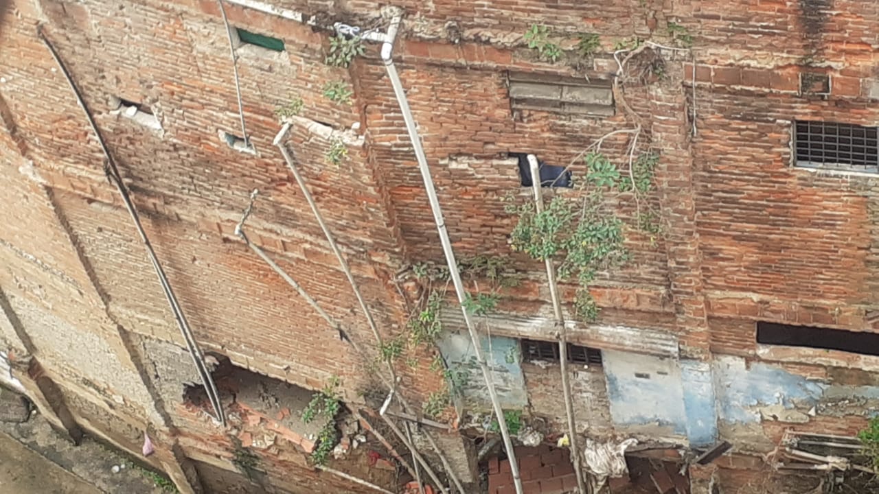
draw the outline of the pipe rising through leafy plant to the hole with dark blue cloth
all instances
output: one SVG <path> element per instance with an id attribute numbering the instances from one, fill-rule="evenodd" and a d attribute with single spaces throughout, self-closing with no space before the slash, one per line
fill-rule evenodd
<path id="1" fill-rule="evenodd" d="M 531 167 L 531 184 L 534 187 L 534 207 L 537 214 L 543 212 L 543 191 L 541 190 L 541 171 L 537 156 L 528 155 L 528 165 Z M 568 416 L 568 436 L 570 437 L 570 459 L 574 463 L 574 472 L 577 474 L 577 486 L 582 494 L 586 494 L 583 482 L 583 471 L 580 469 L 580 452 L 577 448 L 577 426 L 574 424 L 574 404 L 570 398 L 570 382 L 568 380 L 568 335 L 564 325 L 562 301 L 558 296 L 556 284 L 556 265 L 552 258 L 544 259 L 547 268 L 547 281 L 549 284 L 549 296 L 552 299 L 552 307 L 556 314 L 556 331 L 558 331 L 558 354 L 559 367 L 562 370 L 562 390 L 564 399 L 564 411 Z"/>

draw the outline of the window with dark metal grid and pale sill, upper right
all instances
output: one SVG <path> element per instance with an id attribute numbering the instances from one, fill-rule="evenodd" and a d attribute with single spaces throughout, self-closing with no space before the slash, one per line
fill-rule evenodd
<path id="1" fill-rule="evenodd" d="M 879 172 L 876 127 L 838 122 L 795 122 L 796 165 Z"/>

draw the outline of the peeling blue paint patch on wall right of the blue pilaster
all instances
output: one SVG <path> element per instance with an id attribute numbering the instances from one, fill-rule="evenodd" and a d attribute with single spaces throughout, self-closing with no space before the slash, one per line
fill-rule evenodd
<path id="1" fill-rule="evenodd" d="M 791 409 L 794 402 L 813 406 L 827 387 L 764 363 L 748 368 L 739 357 L 717 356 L 714 368 L 718 415 L 725 422 L 759 422 L 759 410 L 755 410 L 759 406 L 781 404 Z"/>

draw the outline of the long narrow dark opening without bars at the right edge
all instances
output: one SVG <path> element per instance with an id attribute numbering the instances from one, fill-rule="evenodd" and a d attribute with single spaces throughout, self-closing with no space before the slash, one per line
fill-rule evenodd
<path id="1" fill-rule="evenodd" d="M 757 343 L 879 355 L 879 334 L 815 326 L 758 322 Z"/>

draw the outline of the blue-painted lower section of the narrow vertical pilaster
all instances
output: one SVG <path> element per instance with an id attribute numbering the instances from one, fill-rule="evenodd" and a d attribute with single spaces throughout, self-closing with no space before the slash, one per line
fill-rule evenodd
<path id="1" fill-rule="evenodd" d="M 700 360 L 681 360 L 686 437 L 692 446 L 708 446 L 717 439 L 717 407 L 711 366 Z"/>

